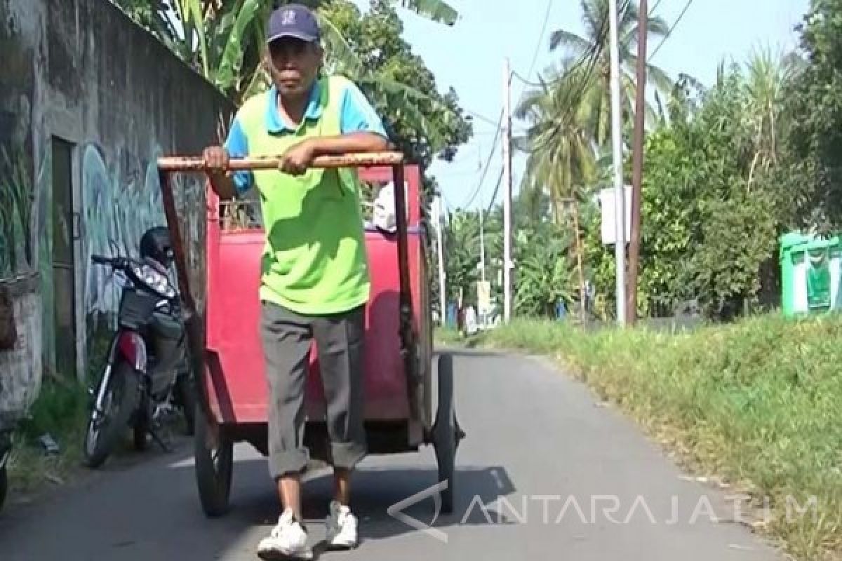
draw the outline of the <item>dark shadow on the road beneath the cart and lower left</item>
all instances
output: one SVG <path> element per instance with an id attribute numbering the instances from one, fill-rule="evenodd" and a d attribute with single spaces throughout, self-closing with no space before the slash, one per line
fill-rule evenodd
<path id="1" fill-rule="evenodd" d="M 239 561 L 277 521 L 278 500 L 264 458 L 241 458 L 235 465 L 231 510 L 209 519 L 200 509 L 189 451 L 162 454 L 150 463 L 96 478 L 31 509 L 0 517 L 4 561 L 32 559 L 119 559 L 140 561 Z M 390 506 L 438 483 L 435 468 L 413 467 L 413 455 L 374 458 L 354 479 L 354 511 L 360 539 L 381 542 L 420 535 L 418 528 L 392 517 Z M 457 468 L 456 500 L 450 515 L 434 516 L 431 497 L 402 512 L 442 532 L 513 522 L 497 501 L 516 492 L 503 467 Z M 306 480 L 304 511 L 314 539 L 323 536 L 333 496 L 327 470 Z M 6 516 L 8 515 L 8 516 Z M 430 537 L 425 540 L 434 541 Z M 318 550 L 318 549 L 317 549 Z"/>

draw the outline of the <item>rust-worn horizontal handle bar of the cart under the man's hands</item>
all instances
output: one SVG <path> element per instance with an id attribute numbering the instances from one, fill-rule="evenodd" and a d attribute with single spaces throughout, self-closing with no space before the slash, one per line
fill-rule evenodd
<path id="1" fill-rule="evenodd" d="M 373 167 L 397 166 L 403 163 L 401 152 L 371 152 L 349 154 L 346 156 L 318 156 L 312 162 L 312 167 Z M 280 166 L 280 156 L 252 156 L 247 158 L 231 158 L 228 161 L 228 171 L 277 169 Z M 205 159 L 195 156 L 164 156 L 157 159 L 157 167 L 161 172 L 205 172 Z"/>

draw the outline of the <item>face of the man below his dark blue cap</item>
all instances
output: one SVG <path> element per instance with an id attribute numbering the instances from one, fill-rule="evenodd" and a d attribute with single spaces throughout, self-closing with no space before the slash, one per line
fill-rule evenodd
<path id="1" fill-rule="evenodd" d="M 283 38 L 269 43 L 269 72 L 283 96 L 302 96 L 310 92 L 322 66 L 322 48 L 317 43 Z"/>

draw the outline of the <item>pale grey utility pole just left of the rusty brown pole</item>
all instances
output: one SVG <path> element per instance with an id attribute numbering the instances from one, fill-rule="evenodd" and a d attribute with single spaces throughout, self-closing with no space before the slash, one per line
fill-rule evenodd
<path id="1" fill-rule="evenodd" d="M 609 0 L 611 37 L 611 139 L 614 152 L 614 212 L 616 215 L 616 300 L 617 322 L 626 325 L 626 193 L 623 188 L 623 137 L 620 114 L 620 40 L 617 0 Z"/>

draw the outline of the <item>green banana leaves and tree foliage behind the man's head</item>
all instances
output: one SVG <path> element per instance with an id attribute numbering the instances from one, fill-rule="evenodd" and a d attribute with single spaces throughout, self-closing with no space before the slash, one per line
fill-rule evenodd
<path id="1" fill-rule="evenodd" d="M 285 0 L 114 1 L 235 102 L 268 86 L 264 22 Z M 395 5 L 444 24 L 455 23 L 456 11 L 443 0 L 372 0 L 365 14 L 349 0 L 301 3 L 317 9 L 328 71 L 360 84 L 400 149 L 424 168 L 435 156 L 452 159 L 470 138 L 471 124 L 456 92 L 440 93 L 433 73 L 402 39 Z"/>

